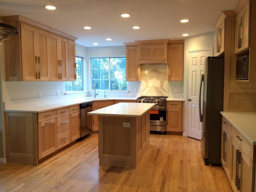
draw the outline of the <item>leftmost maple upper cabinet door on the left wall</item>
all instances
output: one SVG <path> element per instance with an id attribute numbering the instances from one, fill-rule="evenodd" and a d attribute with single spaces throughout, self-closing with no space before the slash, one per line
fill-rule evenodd
<path id="1" fill-rule="evenodd" d="M 21 31 L 22 80 L 37 81 L 38 57 L 35 55 L 37 31 L 35 27 L 24 23 L 21 23 Z"/>

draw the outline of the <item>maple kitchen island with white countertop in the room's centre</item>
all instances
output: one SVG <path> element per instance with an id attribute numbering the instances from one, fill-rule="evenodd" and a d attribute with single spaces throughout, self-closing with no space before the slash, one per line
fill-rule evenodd
<path id="1" fill-rule="evenodd" d="M 99 115 L 99 165 L 136 168 L 149 146 L 152 103 L 118 103 Z"/>

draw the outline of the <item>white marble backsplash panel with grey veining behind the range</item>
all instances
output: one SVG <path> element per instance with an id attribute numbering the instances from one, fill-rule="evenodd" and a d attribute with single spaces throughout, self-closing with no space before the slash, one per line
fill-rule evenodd
<path id="1" fill-rule="evenodd" d="M 142 65 L 141 95 L 168 96 L 167 64 Z"/>

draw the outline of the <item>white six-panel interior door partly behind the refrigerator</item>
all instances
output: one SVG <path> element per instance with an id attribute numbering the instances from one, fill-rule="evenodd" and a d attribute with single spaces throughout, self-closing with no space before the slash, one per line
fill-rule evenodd
<path id="1" fill-rule="evenodd" d="M 205 71 L 206 57 L 211 56 L 211 49 L 189 51 L 189 82 L 187 98 L 187 136 L 202 139 L 202 123 L 199 120 L 199 94 L 201 74 Z M 202 91 L 203 93 L 203 87 Z M 203 98 L 201 98 L 202 107 Z M 202 109 L 202 108 L 201 108 Z"/>

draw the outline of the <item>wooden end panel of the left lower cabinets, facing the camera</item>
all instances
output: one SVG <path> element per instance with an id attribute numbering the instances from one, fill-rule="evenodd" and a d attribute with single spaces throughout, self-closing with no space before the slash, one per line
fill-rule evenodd
<path id="1" fill-rule="evenodd" d="M 5 112 L 8 163 L 38 165 L 37 114 Z"/>

